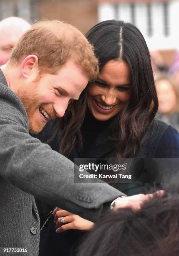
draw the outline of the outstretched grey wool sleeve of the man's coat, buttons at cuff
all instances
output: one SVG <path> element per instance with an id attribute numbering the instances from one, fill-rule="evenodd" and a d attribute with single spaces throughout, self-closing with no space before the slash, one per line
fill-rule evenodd
<path id="1" fill-rule="evenodd" d="M 0 175 L 50 205 L 95 221 L 111 201 L 124 195 L 106 183 L 74 183 L 76 166 L 30 136 L 23 118 L 0 118 L 0 145 Z"/>

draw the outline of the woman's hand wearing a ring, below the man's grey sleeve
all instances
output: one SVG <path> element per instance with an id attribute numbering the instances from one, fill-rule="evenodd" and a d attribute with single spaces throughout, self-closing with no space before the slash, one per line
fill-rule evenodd
<path id="1" fill-rule="evenodd" d="M 56 208 L 53 215 L 55 216 L 54 222 L 56 223 L 57 233 L 61 233 L 68 229 L 90 230 L 94 226 L 93 222 L 83 219 L 79 215 L 62 210 L 61 208 Z M 64 223 L 61 222 L 62 217 Z"/>

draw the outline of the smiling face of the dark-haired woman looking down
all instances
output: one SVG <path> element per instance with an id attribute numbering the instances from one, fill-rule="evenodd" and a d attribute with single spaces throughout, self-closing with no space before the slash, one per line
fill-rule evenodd
<path id="1" fill-rule="evenodd" d="M 108 61 L 88 89 L 87 104 L 94 118 L 106 121 L 131 98 L 130 69 L 124 61 Z"/>

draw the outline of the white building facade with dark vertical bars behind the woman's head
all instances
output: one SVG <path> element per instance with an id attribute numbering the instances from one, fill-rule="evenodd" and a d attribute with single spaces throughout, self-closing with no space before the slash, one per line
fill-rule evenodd
<path id="1" fill-rule="evenodd" d="M 98 20 L 136 25 L 150 50 L 179 49 L 178 0 L 98 0 Z"/>

